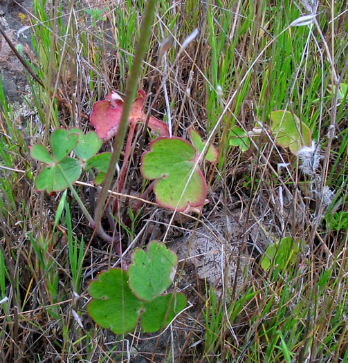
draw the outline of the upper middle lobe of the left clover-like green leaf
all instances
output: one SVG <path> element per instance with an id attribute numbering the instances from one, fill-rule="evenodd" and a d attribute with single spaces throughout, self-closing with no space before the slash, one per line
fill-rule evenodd
<path id="1" fill-rule="evenodd" d="M 78 135 L 66 129 L 57 129 L 51 134 L 51 150 L 57 162 L 63 160 L 76 146 Z"/>

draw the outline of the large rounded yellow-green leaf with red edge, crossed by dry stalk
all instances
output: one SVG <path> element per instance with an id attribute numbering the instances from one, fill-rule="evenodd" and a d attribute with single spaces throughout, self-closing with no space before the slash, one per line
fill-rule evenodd
<path id="1" fill-rule="evenodd" d="M 154 194 L 159 205 L 181 212 L 204 204 L 207 185 L 201 170 L 196 168 L 189 180 L 195 161 L 196 149 L 182 138 L 156 138 L 150 143 L 140 171 L 144 178 L 156 180 Z"/>

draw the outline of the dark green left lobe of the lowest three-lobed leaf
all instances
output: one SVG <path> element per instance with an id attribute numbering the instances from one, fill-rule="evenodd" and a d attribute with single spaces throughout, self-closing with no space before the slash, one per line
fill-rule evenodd
<path id="1" fill-rule="evenodd" d="M 102 328 L 116 334 L 132 331 L 138 323 L 143 301 L 131 292 L 125 270 L 112 268 L 100 272 L 89 284 L 92 300 L 87 304 L 89 316 Z"/>

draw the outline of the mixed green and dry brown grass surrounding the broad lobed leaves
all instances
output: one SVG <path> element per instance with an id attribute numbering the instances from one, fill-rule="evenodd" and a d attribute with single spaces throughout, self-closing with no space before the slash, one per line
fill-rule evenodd
<path id="1" fill-rule="evenodd" d="M 93 214 L 100 200 L 93 171 L 74 183 L 76 194 L 35 190 L 42 169 L 29 145 L 49 147 L 59 127 L 86 133 L 96 101 L 112 91 L 131 94 L 146 6 L 35 0 L 26 9 L 31 49 L 21 57 L 32 73 L 30 112 L 18 117 L 0 86 L 0 360 L 346 362 L 343 1 L 156 1 L 133 93 L 147 95 L 144 124 L 152 115 L 171 136 L 188 139 L 194 129 L 218 145 L 218 162 L 202 165 L 210 203 L 198 216 L 166 212 L 152 194 L 139 211 L 137 198 L 149 188 L 140 156 L 156 137 L 143 125 L 127 145 L 116 210 L 100 210 L 109 241 L 95 236 L 94 217 L 87 221 L 80 207 Z M 272 128 L 277 110 L 296 120 L 296 150 Z M 286 133 L 282 126 L 276 129 Z M 114 149 L 108 141 L 101 151 Z M 117 170 L 110 171 L 115 185 Z M 237 224 L 232 210 L 239 210 Z M 86 314 L 89 283 L 99 272 L 128 266 L 134 248 L 152 239 L 194 243 L 199 223 L 211 227 L 217 219 L 224 221 L 221 249 L 179 261 L 174 290 L 189 304 L 169 330 L 114 335 Z M 221 289 L 208 286 L 208 273 L 206 285 L 198 281 L 197 261 L 206 254 L 219 256 Z M 238 272 L 244 258 L 248 266 Z M 233 278 L 226 272 L 232 264 Z"/>

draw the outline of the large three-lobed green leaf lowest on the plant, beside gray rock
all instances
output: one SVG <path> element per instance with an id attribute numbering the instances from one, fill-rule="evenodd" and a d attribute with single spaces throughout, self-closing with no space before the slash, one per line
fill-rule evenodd
<path id="1" fill-rule="evenodd" d="M 152 241 L 147 252 L 133 253 L 128 271 L 111 268 L 98 274 L 89 285 L 92 300 L 87 312 L 102 328 L 126 334 L 138 324 L 152 333 L 167 326 L 186 306 L 181 292 L 164 294 L 170 287 L 177 257 L 164 243 Z"/>

